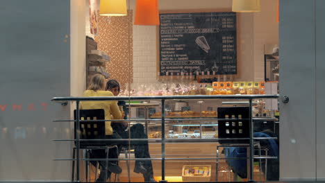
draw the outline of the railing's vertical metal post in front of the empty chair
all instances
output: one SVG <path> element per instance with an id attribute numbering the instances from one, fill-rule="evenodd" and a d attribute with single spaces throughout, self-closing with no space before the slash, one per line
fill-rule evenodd
<path id="1" fill-rule="evenodd" d="M 253 103 L 249 99 L 249 182 L 253 180 L 253 166 L 254 166 L 254 124 L 253 124 Z"/>

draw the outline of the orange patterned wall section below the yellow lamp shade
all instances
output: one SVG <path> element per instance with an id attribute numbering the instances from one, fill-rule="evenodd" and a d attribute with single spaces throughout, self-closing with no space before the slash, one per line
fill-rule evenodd
<path id="1" fill-rule="evenodd" d="M 110 56 L 106 63 L 109 79 L 122 84 L 133 82 L 133 11 L 123 17 L 99 17 L 98 49 Z"/>

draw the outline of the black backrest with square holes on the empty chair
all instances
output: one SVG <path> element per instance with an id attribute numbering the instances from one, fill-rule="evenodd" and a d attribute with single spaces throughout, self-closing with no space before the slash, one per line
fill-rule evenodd
<path id="1" fill-rule="evenodd" d="M 218 138 L 249 138 L 249 107 L 218 107 L 218 119 L 227 119 L 218 121 Z M 249 140 L 219 140 L 219 143 L 249 143 Z"/>

